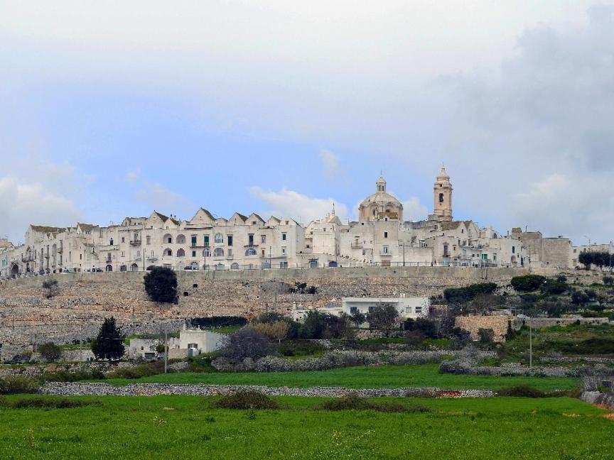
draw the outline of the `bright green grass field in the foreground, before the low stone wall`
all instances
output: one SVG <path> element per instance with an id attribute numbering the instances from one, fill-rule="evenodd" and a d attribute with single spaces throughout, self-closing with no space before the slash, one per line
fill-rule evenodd
<path id="1" fill-rule="evenodd" d="M 27 396 L 7 397 L 11 400 Z M 614 421 L 569 398 L 395 402 L 424 413 L 211 409 L 212 398 L 79 398 L 72 409 L 0 408 L 9 459 L 611 459 Z"/>

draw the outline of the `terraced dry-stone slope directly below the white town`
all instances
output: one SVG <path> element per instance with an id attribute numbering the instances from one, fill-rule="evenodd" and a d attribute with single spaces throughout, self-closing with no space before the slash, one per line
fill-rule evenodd
<path id="1" fill-rule="evenodd" d="M 507 285 L 523 270 L 490 268 L 488 281 Z M 341 297 L 441 295 L 448 287 L 485 280 L 469 267 L 328 268 L 311 270 L 237 270 L 178 272 L 177 305 L 151 302 L 143 273 L 68 273 L 53 275 L 60 293 L 45 298 L 43 280 L 21 278 L 0 288 L 2 358 L 33 342 L 85 340 L 113 315 L 126 332 L 179 329 L 185 319 L 212 315 L 248 315 L 265 310 L 289 312 L 293 305 L 323 307 Z M 291 293 L 296 283 L 316 286 L 315 295 Z M 184 295 L 185 294 L 185 295 Z"/>

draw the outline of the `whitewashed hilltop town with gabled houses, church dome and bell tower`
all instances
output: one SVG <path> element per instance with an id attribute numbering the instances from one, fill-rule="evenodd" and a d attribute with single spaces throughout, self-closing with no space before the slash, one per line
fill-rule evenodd
<path id="1" fill-rule="evenodd" d="M 264 220 L 235 212 L 214 217 L 200 208 L 190 220 L 154 211 L 122 224 L 31 224 L 24 243 L 0 241 L 0 277 L 50 273 L 125 272 L 164 266 L 174 270 L 254 270 L 365 266 L 465 266 L 576 268 L 582 251 L 564 236 L 539 231 L 497 232 L 473 220 L 453 219 L 453 187 L 442 168 L 433 185 L 433 214 L 405 221 L 403 204 L 379 177 L 375 193 L 360 204 L 358 221 L 333 210 L 301 225 L 292 217 Z M 298 210 L 297 210 L 298 212 Z"/>

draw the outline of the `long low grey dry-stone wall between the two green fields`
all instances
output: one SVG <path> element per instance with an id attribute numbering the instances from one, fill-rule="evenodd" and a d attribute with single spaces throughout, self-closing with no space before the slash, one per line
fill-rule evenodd
<path id="1" fill-rule="evenodd" d="M 389 396 L 421 398 L 492 398 L 491 390 L 441 390 L 439 388 L 367 388 L 351 389 L 343 387 L 288 388 L 240 385 L 175 385 L 168 383 L 136 383 L 133 385 L 113 386 L 108 383 L 46 383 L 39 393 L 58 396 L 212 396 L 233 393 L 237 390 L 258 390 L 269 396 L 305 396 L 308 398 L 340 398 L 355 394 L 368 398 Z"/>

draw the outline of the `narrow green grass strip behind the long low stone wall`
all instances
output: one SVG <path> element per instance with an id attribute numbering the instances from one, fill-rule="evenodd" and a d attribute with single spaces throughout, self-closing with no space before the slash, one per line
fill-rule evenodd
<path id="1" fill-rule="evenodd" d="M 576 378 L 456 376 L 442 374 L 437 364 L 419 366 L 377 366 L 331 369 L 308 372 L 271 373 L 173 373 L 138 380 L 109 379 L 113 385 L 129 383 L 205 383 L 209 385 L 267 385 L 304 388 L 343 386 L 347 388 L 438 387 L 455 389 L 497 389 L 514 385 L 531 385 L 539 390 L 578 388 Z"/>

